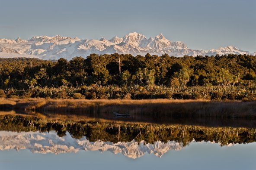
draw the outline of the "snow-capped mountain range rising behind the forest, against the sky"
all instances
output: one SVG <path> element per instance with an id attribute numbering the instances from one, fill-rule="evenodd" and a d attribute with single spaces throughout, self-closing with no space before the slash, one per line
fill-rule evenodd
<path id="1" fill-rule="evenodd" d="M 79 39 L 77 37 L 55 37 L 34 36 L 29 40 L 22 40 L 18 37 L 16 40 L 0 39 L 0 57 L 37 57 L 40 59 L 72 59 L 75 56 L 86 58 L 91 53 L 96 54 L 140 54 L 151 55 L 169 54 L 169 56 L 197 56 L 197 55 L 224 55 L 224 54 L 250 54 L 233 46 L 221 47 L 219 49 L 189 49 L 181 41 L 172 42 L 167 40 L 163 34 L 156 37 L 146 38 L 143 34 L 137 32 L 126 34 L 124 37 L 113 37 L 106 40 L 102 37 L 99 40 Z"/>

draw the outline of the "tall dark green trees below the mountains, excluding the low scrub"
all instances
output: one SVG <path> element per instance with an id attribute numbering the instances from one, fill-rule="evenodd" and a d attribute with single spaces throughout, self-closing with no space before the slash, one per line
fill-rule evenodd
<path id="1" fill-rule="evenodd" d="M 0 89 L 5 90 L 7 96 L 10 89 L 32 91 L 39 87 L 78 88 L 91 84 L 97 87 L 140 86 L 144 88 L 141 91 L 152 91 L 157 86 L 183 91 L 188 87 L 209 86 L 246 88 L 250 91 L 255 90 L 255 80 L 256 57 L 250 55 L 179 58 L 167 54 L 134 57 L 114 53 L 91 54 L 86 59 L 75 57 L 70 61 L 63 58 L 58 61 L 0 59 Z M 74 92 L 81 93 L 81 90 Z"/>

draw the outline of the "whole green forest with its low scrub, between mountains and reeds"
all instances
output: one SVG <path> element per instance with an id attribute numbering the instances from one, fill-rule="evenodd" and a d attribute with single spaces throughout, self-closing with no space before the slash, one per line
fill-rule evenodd
<path id="1" fill-rule="evenodd" d="M 0 97 L 256 99 L 256 57 L 90 54 L 0 59 Z"/>

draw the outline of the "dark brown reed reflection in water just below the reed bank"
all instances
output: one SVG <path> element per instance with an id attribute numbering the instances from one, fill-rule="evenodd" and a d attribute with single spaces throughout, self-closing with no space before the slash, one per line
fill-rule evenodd
<path id="1" fill-rule="evenodd" d="M 129 117 L 116 117 L 114 114 L 93 112 L 93 113 L 67 113 L 67 112 L 31 112 L 31 111 L 0 111 L 0 115 L 22 115 L 33 116 L 42 119 L 74 120 L 74 121 L 123 121 L 130 123 L 148 124 L 182 124 L 205 127 L 247 127 L 256 128 L 254 119 L 223 118 L 223 117 L 172 117 L 167 115 L 154 114 L 131 114 Z"/>

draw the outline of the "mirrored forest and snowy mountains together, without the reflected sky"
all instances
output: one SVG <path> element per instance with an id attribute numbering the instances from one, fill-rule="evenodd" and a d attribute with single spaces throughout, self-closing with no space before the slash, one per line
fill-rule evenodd
<path id="1" fill-rule="evenodd" d="M 256 141 L 254 127 L 135 123 L 74 116 L 73 120 L 65 116 L 57 120 L 34 116 L 1 115 L 0 150 L 27 148 L 33 153 L 54 154 L 110 151 L 139 158 L 145 153 L 161 157 L 191 142 L 232 146 Z"/>

